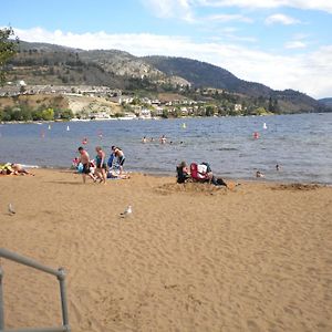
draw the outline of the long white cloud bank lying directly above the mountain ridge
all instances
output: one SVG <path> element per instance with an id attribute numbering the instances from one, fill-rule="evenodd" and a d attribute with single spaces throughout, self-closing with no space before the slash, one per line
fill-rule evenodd
<path id="1" fill-rule="evenodd" d="M 117 49 L 134 55 L 185 56 L 219 65 L 239 79 L 263 83 L 272 89 L 294 89 L 314 97 L 332 95 L 332 45 L 314 53 L 286 56 L 228 43 L 194 42 L 189 38 L 156 34 L 75 34 L 41 28 L 20 30 L 24 41 L 48 42 L 85 50 Z"/>

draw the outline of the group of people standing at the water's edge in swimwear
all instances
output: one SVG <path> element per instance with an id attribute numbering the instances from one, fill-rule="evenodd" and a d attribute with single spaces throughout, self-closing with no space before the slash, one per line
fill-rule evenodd
<path id="1" fill-rule="evenodd" d="M 123 165 L 125 162 L 125 155 L 123 151 L 117 146 L 112 146 L 112 153 L 106 160 L 106 154 L 101 146 L 95 147 L 96 156 L 94 159 L 90 158 L 90 155 L 85 148 L 79 147 L 80 157 L 73 160 L 73 166 L 77 168 L 79 173 L 82 173 L 83 183 L 86 181 L 86 176 L 89 176 L 93 181 L 100 181 L 106 184 L 107 177 L 115 177 L 113 169 L 114 158 L 117 158 L 118 175 L 116 177 L 126 178 L 123 174 Z"/>

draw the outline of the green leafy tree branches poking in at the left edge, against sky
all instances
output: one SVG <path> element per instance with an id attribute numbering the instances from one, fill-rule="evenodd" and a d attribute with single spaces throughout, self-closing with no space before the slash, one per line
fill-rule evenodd
<path id="1" fill-rule="evenodd" d="M 6 80 L 4 64 L 11 58 L 13 58 L 18 52 L 17 44 L 19 40 L 18 39 L 15 41 L 9 40 L 9 38 L 13 34 L 14 32 L 12 28 L 0 29 L 0 84 L 1 85 L 4 83 Z"/>

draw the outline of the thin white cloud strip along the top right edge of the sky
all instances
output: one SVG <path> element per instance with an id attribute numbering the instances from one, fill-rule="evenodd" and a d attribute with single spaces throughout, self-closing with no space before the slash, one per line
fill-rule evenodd
<path id="1" fill-rule="evenodd" d="M 241 7 L 241 8 L 280 8 L 320 10 L 332 13 L 330 0 L 194 0 L 196 6 L 204 7 Z"/>

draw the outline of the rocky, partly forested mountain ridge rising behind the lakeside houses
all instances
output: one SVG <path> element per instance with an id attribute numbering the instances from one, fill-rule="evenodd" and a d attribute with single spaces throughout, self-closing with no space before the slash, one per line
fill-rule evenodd
<path id="1" fill-rule="evenodd" d="M 197 60 L 170 56 L 134 56 L 118 50 L 66 48 L 20 42 L 10 62 L 9 79 L 28 84 L 107 85 L 128 91 L 188 91 L 217 89 L 239 102 L 278 103 L 282 113 L 325 112 L 329 105 L 293 90 L 274 91 L 263 84 L 240 80 L 229 71 Z"/>

